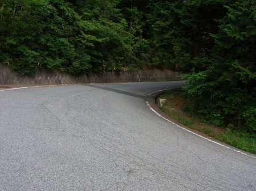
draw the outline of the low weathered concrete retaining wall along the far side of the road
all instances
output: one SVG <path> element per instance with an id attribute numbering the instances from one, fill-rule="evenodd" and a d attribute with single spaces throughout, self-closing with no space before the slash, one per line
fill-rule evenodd
<path id="1" fill-rule="evenodd" d="M 171 70 L 111 71 L 89 76 L 71 75 L 60 71 L 38 71 L 34 77 L 22 76 L 0 63 L 0 84 L 71 84 L 71 83 L 115 83 L 157 82 L 180 80 L 180 74 Z"/>

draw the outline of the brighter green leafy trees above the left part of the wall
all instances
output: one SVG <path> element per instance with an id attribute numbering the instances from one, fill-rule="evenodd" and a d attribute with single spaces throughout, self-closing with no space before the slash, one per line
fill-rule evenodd
<path id="1" fill-rule="evenodd" d="M 148 43 L 134 35 L 138 19 L 129 31 L 116 6 L 100 0 L 3 1 L 0 59 L 26 75 L 45 67 L 72 74 L 139 69 Z"/>

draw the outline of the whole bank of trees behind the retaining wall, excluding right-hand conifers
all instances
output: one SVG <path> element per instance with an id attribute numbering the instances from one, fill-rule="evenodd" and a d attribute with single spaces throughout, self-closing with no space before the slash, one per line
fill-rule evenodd
<path id="1" fill-rule="evenodd" d="M 44 67 L 72 74 L 152 67 L 189 72 L 194 65 L 204 70 L 214 43 L 209 32 L 216 31 L 221 5 L 210 0 L 5 0 L 0 58 L 29 75 Z M 20 45 L 36 53 L 26 66 L 35 70 L 16 67 L 24 56 Z"/>

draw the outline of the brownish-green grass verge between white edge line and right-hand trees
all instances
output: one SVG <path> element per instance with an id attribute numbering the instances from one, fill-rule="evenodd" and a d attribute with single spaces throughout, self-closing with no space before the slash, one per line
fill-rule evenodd
<path id="1" fill-rule="evenodd" d="M 166 99 L 166 102 L 161 108 L 164 113 L 179 121 L 188 128 L 195 129 L 217 139 L 225 142 L 231 146 L 240 148 L 241 150 L 256 154 L 256 134 L 249 134 L 241 132 L 236 129 L 221 128 L 216 125 L 208 124 L 205 120 L 193 116 L 184 111 L 185 105 L 184 93 L 182 90 L 166 92 L 160 95 L 159 98 Z"/>

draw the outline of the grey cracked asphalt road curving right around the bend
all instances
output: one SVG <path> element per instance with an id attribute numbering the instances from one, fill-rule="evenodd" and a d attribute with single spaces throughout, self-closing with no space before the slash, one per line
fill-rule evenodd
<path id="1" fill-rule="evenodd" d="M 182 83 L 0 90 L 0 190 L 256 190 L 255 155 L 148 108 Z"/>

